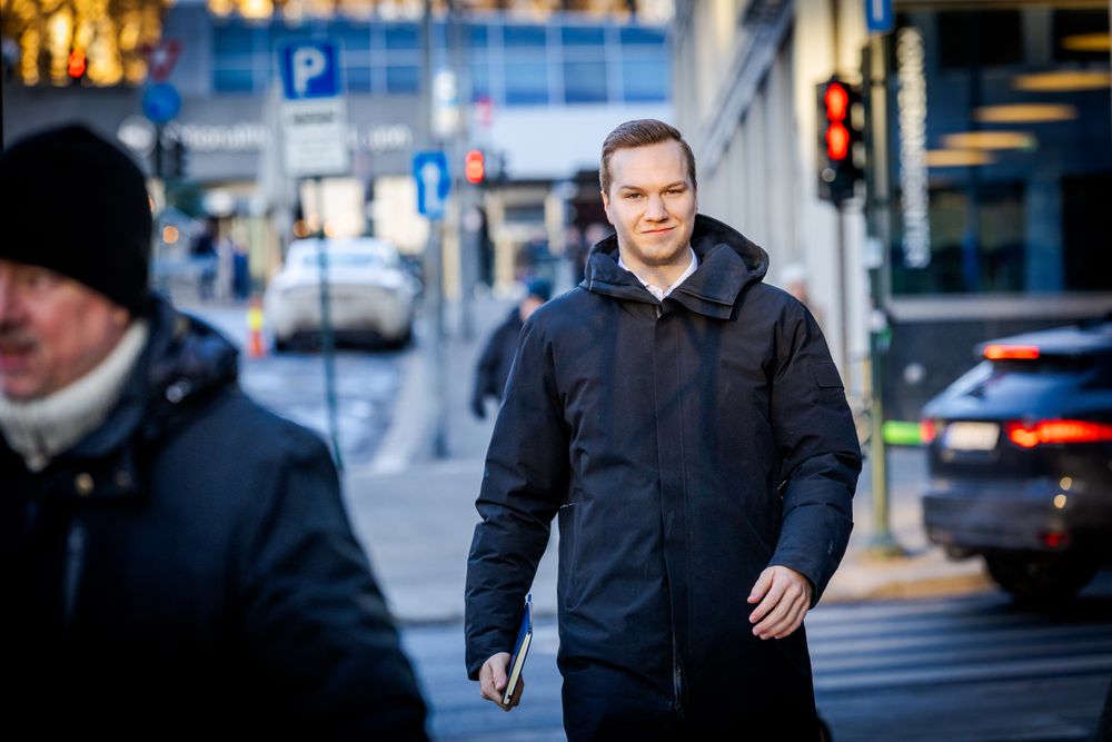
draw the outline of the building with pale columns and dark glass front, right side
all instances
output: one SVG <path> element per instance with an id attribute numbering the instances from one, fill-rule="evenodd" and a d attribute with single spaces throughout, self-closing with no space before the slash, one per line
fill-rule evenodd
<path id="1" fill-rule="evenodd" d="M 1112 309 L 1110 7 L 897 0 L 872 34 L 864 9 L 679 3 L 675 106 L 704 210 L 766 246 L 773 283 L 805 266 L 851 396 L 874 330 L 886 417 L 914 421 L 976 343 Z M 818 196 L 832 75 L 864 103 L 841 208 Z"/>

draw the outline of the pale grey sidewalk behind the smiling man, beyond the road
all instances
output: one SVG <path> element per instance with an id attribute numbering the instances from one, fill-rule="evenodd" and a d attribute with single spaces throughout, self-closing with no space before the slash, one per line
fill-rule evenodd
<path id="1" fill-rule="evenodd" d="M 396 419 L 375 461 L 346 473 L 349 512 L 367 546 L 375 572 L 404 623 L 458 621 L 464 611 L 467 553 L 478 515 L 475 497 L 483 459 L 494 427 L 493 404 L 485 421 L 469 409 L 475 362 L 490 329 L 513 301 L 480 298 L 474 303 L 475 337 L 453 333 L 449 359 L 447 443 L 449 457 L 431 457 L 424 422 L 429 395 L 425 355 L 420 348 L 407 359 Z M 458 321 L 449 321 L 458 326 Z M 922 452 L 894 449 L 892 531 L 910 556 L 880 561 L 868 555 L 872 536 L 871 477 L 865 462 L 854 503 L 850 548 L 831 582 L 824 602 L 906 598 L 990 590 L 980 560 L 949 562 L 929 547 L 920 525 L 919 488 L 925 469 Z M 533 586 L 534 609 L 556 612 L 554 538 L 540 562 Z"/>

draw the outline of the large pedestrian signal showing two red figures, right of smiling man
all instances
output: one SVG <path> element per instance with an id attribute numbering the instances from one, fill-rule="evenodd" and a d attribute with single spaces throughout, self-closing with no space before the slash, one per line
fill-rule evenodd
<path id="1" fill-rule="evenodd" d="M 818 85 L 818 197 L 841 204 L 853 197 L 864 177 L 860 158 L 861 128 L 854 109 L 861 92 L 837 76 Z"/>

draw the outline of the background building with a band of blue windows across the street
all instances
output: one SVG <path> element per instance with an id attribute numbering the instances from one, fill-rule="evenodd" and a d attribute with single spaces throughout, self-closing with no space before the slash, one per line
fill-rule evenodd
<path id="1" fill-rule="evenodd" d="M 509 285 L 532 246 L 543 243 L 554 256 L 563 255 L 569 210 L 567 187 L 559 186 L 597 167 L 606 132 L 631 118 L 671 117 L 666 26 L 628 12 L 477 3 L 466 13 L 436 13 L 426 24 L 420 3 L 379 3 L 359 17 L 298 19 L 288 13 L 250 19 L 230 6 L 220 14 L 212 4 L 181 0 L 166 11 L 161 44 L 172 46 L 177 57 L 166 81 L 181 105 L 161 131 L 143 116 L 151 81 L 136 87 L 10 81 L 4 137 L 83 120 L 118 137 L 158 175 L 160 136 L 167 142 L 162 150 L 180 149 L 173 165 L 185 172 L 177 179 L 198 190 L 202 210 L 220 219 L 221 231 L 250 245 L 259 280 L 278 265 L 291 237 L 321 221 L 332 234 L 374 233 L 404 251 L 423 251 L 428 225 L 417 214 L 413 155 L 445 148 L 457 192 L 470 189 L 468 209 L 483 212 L 493 255 L 481 256 L 481 277 Z M 284 171 L 276 59 L 285 44 L 321 38 L 341 50 L 353 157 L 350 176 L 325 180 L 325 212 L 318 215 L 318 199 L 308 197 L 312 184 L 297 184 Z M 470 148 L 486 156 L 483 188 L 459 177 Z M 163 154 L 163 169 L 169 159 Z M 470 222 L 458 202 L 449 208 L 445 244 L 456 290 L 466 260 L 460 225 Z"/>

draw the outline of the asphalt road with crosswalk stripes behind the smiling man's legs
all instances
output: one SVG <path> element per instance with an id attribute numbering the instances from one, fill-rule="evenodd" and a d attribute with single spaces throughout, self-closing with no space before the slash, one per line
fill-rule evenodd
<path id="1" fill-rule="evenodd" d="M 807 619 L 818 710 L 836 742 L 1090 740 L 1112 679 L 1112 573 L 1055 611 L 1000 593 L 820 606 Z M 522 705 L 464 676 L 458 624 L 404 632 L 445 742 L 563 740 L 558 640 L 536 624 Z"/>

